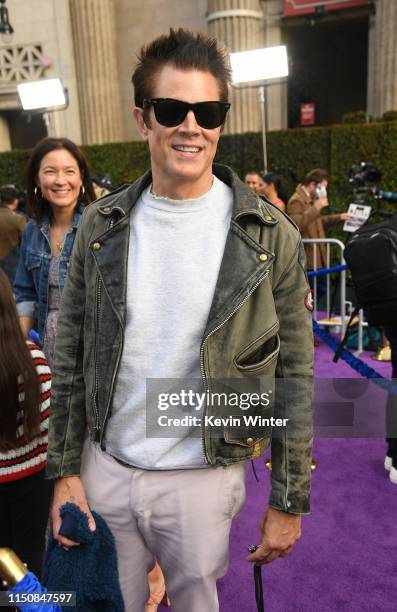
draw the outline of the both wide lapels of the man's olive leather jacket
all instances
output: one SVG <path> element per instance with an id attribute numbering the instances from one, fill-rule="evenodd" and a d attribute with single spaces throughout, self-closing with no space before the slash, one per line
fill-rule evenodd
<path id="1" fill-rule="evenodd" d="M 251 194 L 229 168 L 214 164 L 214 174 L 232 188 L 234 205 L 205 335 L 233 314 L 274 260 L 274 254 L 255 239 L 259 231 L 253 233 L 247 227 L 252 226 L 252 221 L 256 229 L 277 223 L 266 215 L 265 203 Z M 150 182 L 151 174 L 147 173 L 127 189 L 102 198 L 98 206 L 102 223 L 90 243 L 103 285 L 122 325 L 126 312 L 129 213 Z"/>

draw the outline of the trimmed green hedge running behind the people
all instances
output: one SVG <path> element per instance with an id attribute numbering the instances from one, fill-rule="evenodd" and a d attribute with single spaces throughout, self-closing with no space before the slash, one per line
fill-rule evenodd
<path id="1" fill-rule="evenodd" d="M 278 172 L 291 194 L 308 170 L 330 171 L 332 212 L 345 210 L 351 201 L 348 170 L 361 161 L 372 162 L 382 172 L 382 187 L 397 191 L 397 122 L 300 128 L 268 134 L 269 168 Z M 142 142 L 84 146 L 93 174 L 107 172 L 114 184 L 133 181 L 149 167 Z M 0 185 L 24 185 L 29 151 L 0 154 Z M 260 134 L 222 136 L 217 161 L 230 165 L 240 176 L 262 167 Z"/>

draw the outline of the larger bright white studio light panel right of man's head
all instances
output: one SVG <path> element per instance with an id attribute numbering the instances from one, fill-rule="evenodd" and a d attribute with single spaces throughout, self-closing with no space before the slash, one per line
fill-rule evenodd
<path id="1" fill-rule="evenodd" d="M 287 47 L 266 47 L 230 54 L 233 84 L 255 83 L 288 76 Z"/>

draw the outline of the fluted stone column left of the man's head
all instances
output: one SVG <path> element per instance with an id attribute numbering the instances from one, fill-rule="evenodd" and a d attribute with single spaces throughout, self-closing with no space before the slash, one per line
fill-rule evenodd
<path id="1" fill-rule="evenodd" d="M 114 0 L 70 0 L 83 144 L 122 140 Z"/>

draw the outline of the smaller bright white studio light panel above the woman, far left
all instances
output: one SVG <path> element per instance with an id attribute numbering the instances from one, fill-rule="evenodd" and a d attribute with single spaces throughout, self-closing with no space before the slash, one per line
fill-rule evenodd
<path id="1" fill-rule="evenodd" d="M 66 104 L 65 91 L 60 79 L 20 83 L 18 94 L 24 110 L 49 110 Z"/>

